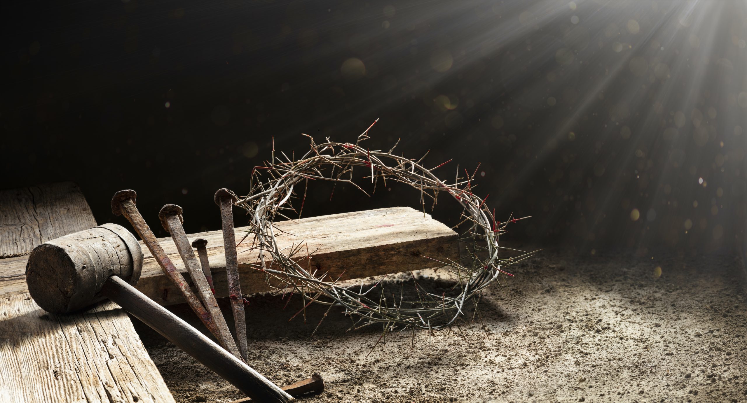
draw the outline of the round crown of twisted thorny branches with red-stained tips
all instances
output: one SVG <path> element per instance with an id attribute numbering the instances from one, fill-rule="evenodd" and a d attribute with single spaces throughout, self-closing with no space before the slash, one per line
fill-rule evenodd
<path id="1" fill-rule="evenodd" d="M 434 169 L 445 163 L 433 169 L 426 169 L 421 166 L 421 161 L 425 156 L 420 160 L 411 160 L 393 154 L 394 147 L 397 146 L 399 140 L 388 152 L 364 149 L 360 143 L 369 138 L 367 132 L 368 130 L 363 132 L 355 144 L 335 143 L 329 141 L 329 138 L 326 139 L 326 143 L 316 144 L 311 136 L 304 134 L 311 140 L 311 148 L 298 160 L 291 160 L 282 151 L 285 160 L 276 158 L 273 145 L 272 161 L 266 163 L 265 166 L 256 166 L 252 170 L 249 195 L 238 199 L 235 203 L 246 209 L 249 215 L 247 235 L 253 234 L 252 247 L 259 251 L 259 262 L 252 264 L 256 269 L 267 274 L 268 284 L 270 278 L 280 281 L 279 285 L 275 284 L 271 287 L 278 290 L 290 287 L 294 292 L 300 293 L 303 297 L 304 309 L 311 302 L 328 305 L 329 308 L 321 320 L 326 317 L 332 307 L 339 306 L 344 308 L 345 314 L 350 315 L 351 318 L 357 318 L 357 320 L 353 319 L 351 328 L 361 328 L 374 323 L 383 323 L 385 332 L 405 328 L 449 327 L 469 307 L 474 306 L 477 310 L 477 299 L 481 290 L 494 283 L 502 286 L 500 277 L 512 276 L 504 270 L 506 266 L 529 255 L 521 254 L 509 258 L 498 256 L 499 235 L 506 230 L 509 222 L 516 222 L 518 219 L 509 217 L 506 222 L 496 221 L 495 210 L 491 212 L 486 206 L 487 196 L 485 199 L 480 199 L 472 193 L 471 181 L 477 169 L 472 175 L 465 170 L 465 177 L 461 178 L 459 167 L 457 167 L 454 183 L 447 184 L 446 181 L 438 179 L 433 174 Z M 331 170 L 325 175 L 328 168 Z M 374 190 L 379 180 L 384 182 L 384 186 L 386 186 L 386 181 L 395 181 L 415 187 L 421 191 L 420 203 L 424 211 L 425 199 L 427 197 L 433 199 L 431 207 L 433 210 L 440 193 L 446 193 L 459 201 L 463 207 L 461 213 L 463 220 L 453 228 L 465 222 L 471 223 L 468 230 L 460 237 L 462 243 L 468 243 L 465 246 L 467 253 L 459 261 L 436 260 L 436 263 L 449 269 L 459 279 L 454 285 L 461 291 L 458 296 L 429 293 L 415 281 L 417 301 L 403 301 L 401 296 L 399 302 L 396 299 L 388 301 L 383 292 L 373 292 L 379 283 L 368 287 L 367 290 L 362 288 L 358 290 L 357 284 L 356 287 L 347 283 L 341 284 L 331 278 L 328 273 L 317 274 L 311 272 L 310 267 L 304 268 L 301 263 L 308 257 L 308 249 L 307 254 L 303 256 L 299 254 L 302 250 L 302 242 L 294 243 L 294 246 L 285 249 L 277 245 L 275 235 L 281 230 L 273 225 L 273 220 L 277 216 L 290 219 L 282 213 L 282 210 L 295 211 L 291 205 L 291 196 L 300 190 L 301 182 L 306 183 L 298 211 L 299 216 L 303 212 L 303 201 L 306 200 L 309 180 L 334 181 L 335 186 L 337 182 L 344 182 L 366 193 L 353 181 L 353 169 L 356 169 L 356 172 L 363 172 L 364 179 L 370 178 Z M 334 193 L 334 187 L 332 193 Z M 265 263 L 264 254 L 269 254 L 269 264 Z M 424 258 L 430 259 L 430 257 Z"/>

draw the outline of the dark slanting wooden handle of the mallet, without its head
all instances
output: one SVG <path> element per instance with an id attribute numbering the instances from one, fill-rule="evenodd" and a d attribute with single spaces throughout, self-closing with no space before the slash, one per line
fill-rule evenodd
<path id="1" fill-rule="evenodd" d="M 187 322 L 166 308 L 156 304 L 143 293 L 116 275 L 111 276 L 101 289 L 103 296 L 140 319 L 179 349 L 184 350 L 203 365 L 258 402 L 293 402 L 285 393 L 259 372 L 241 362 L 208 339 Z"/>

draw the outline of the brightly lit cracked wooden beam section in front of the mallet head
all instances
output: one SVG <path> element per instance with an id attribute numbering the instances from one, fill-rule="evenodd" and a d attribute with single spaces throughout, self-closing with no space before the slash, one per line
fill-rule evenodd
<path id="1" fill-rule="evenodd" d="M 0 299 L 0 402 L 173 402 L 127 314 L 112 302 L 46 313 Z"/>

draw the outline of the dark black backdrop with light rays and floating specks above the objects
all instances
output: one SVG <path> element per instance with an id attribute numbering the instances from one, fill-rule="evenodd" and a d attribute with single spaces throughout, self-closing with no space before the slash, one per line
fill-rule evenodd
<path id="1" fill-rule="evenodd" d="M 161 236 L 220 228 L 213 194 L 301 133 L 478 173 L 506 238 L 579 253 L 741 250 L 743 1 L 26 1 L 3 5 L 0 187 L 117 190 Z M 634 23 L 632 23 L 633 21 Z M 352 60 L 351 60 L 352 59 Z M 482 174 L 484 172 L 484 175 Z M 453 180 L 453 179 L 451 179 Z M 365 186 L 365 181 L 362 181 Z M 305 215 L 418 208 L 317 184 Z M 440 201 L 440 200 L 439 200 Z M 244 223 L 237 210 L 237 224 Z M 454 225 L 455 202 L 434 216 Z"/>

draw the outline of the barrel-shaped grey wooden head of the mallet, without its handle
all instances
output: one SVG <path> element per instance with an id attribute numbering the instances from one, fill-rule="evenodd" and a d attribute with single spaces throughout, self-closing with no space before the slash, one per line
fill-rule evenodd
<path id="1" fill-rule="evenodd" d="M 99 291 L 112 275 L 136 284 L 142 269 L 137 239 L 121 225 L 104 224 L 34 248 L 26 264 L 26 283 L 40 307 L 65 313 L 105 299 Z"/>

